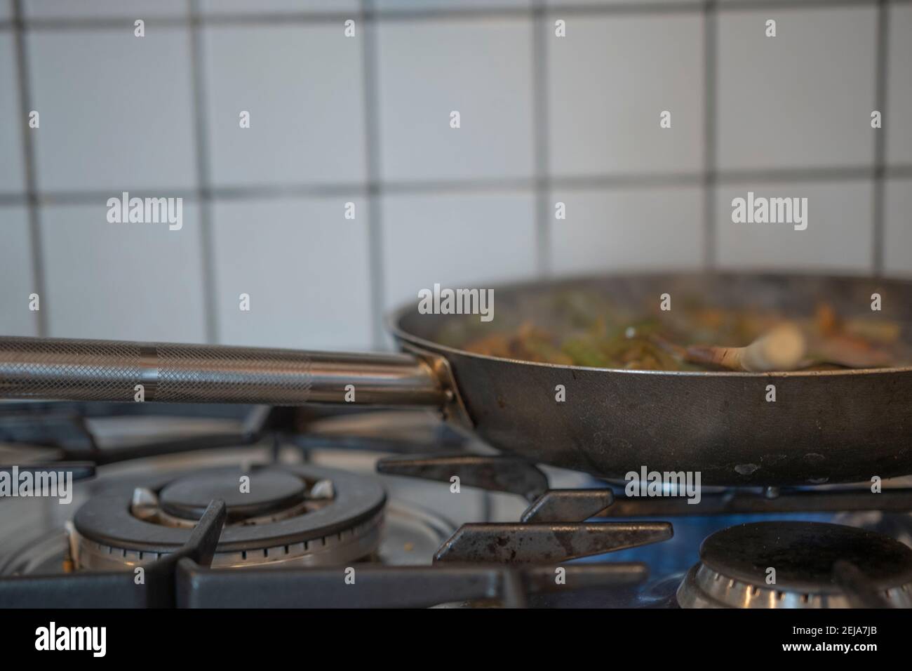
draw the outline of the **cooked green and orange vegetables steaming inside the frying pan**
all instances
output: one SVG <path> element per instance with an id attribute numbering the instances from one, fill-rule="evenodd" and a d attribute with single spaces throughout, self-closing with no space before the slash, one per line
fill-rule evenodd
<path id="1" fill-rule="evenodd" d="M 535 315 L 530 319 L 508 317 L 496 332 L 451 322 L 440 340 L 496 357 L 643 371 L 781 372 L 908 361 L 898 324 L 841 319 L 826 302 L 813 315 L 794 319 L 768 310 L 710 307 L 699 299 L 684 299 L 683 308 L 667 312 L 637 312 L 574 290 L 550 301 L 547 309 L 528 310 Z"/>

